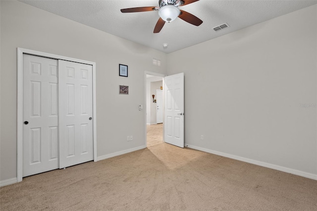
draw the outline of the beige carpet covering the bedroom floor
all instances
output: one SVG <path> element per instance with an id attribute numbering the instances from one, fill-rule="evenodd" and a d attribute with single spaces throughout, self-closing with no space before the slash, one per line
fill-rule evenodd
<path id="1" fill-rule="evenodd" d="M 317 181 L 160 143 L 23 178 L 1 211 L 316 211 Z"/>

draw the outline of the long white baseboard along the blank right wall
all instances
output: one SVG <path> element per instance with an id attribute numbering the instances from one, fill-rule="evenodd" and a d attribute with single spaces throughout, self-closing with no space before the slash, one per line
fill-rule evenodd
<path id="1" fill-rule="evenodd" d="M 234 156 L 234 155 L 231 155 L 231 154 L 222 153 L 222 152 L 218 152 L 218 151 L 214 151 L 214 150 L 209 150 L 209 149 L 206 149 L 206 148 L 197 147 L 197 146 L 193 146 L 193 145 L 189 145 L 189 144 L 185 144 L 185 146 L 188 147 L 188 148 L 194 149 L 194 150 L 199 150 L 199 151 L 203 151 L 203 152 L 206 152 L 206 153 L 211 153 L 211 154 L 222 156 L 222 157 L 226 157 L 226 158 L 232 158 L 232 159 L 236 159 L 236 160 L 240 160 L 240 161 L 244 161 L 244 162 L 260 165 L 260 166 L 263 166 L 263 167 L 267 167 L 267 168 L 272 168 L 272 169 L 275 169 L 275 170 L 283 171 L 283 172 L 286 172 L 286 173 L 291 173 L 291 174 L 295 174 L 295 175 L 298 175 L 298 176 L 302 176 L 302 177 L 306 177 L 306 178 L 317 180 L 317 174 L 312 174 L 312 173 L 308 173 L 308 172 L 305 172 L 305 171 L 300 171 L 300 170 L 296 170 L 296 169 L 292 169 L 292 168 L 287 168 L 287 167 L 284 167 L 284 166 L 275 165 L 275 164 L 271 164 L 271 163 L 267 163 L 267 162 L 262 162 L 262 161 L 258 161 L 258 160 L 254 160 L 254 159 L 243 158 L 243 157 L 240 157 L 240 156 Z"/>

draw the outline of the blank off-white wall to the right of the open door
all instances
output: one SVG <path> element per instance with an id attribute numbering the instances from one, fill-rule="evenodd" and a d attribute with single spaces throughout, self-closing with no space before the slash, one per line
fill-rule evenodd
<path id="1" fill-rule="evenodd" d="M 317 179 L 317 5 L 169 53 L 167 69 L 185 73 L 187 145 Z"/>

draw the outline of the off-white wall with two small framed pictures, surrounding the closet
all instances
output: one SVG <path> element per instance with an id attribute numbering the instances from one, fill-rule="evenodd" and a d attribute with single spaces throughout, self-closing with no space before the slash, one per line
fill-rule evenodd
<path id="1" fill-rule="evenodd" d="M 19 1 L 0 1 L 0 181 L 16 177 L 17 48 L 96 62 L 99 158 L 145 147 L 144 72 L 166 73 L 166 54 Z M 152 65 L 159 58 L 161 67 Z M 118 64 L 128 65 L 120 77 Z M 119 95 L 119 85 L 129 95 Z M 133 141 L 126 137 L 133 135 Z"/>

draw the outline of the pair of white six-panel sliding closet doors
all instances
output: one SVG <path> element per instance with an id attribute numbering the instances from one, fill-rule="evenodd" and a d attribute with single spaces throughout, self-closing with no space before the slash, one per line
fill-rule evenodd
<path id="1" fill-rule="evenodd" d="M 93 160 L 92 117 L 92 65 L 23 53 L 23 177 Z"/>

